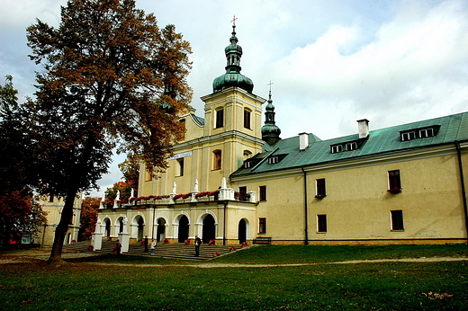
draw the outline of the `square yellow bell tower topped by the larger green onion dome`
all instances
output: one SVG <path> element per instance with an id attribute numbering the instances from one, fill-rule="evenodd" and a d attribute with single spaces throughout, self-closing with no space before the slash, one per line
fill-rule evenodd
<path id="1" fill-rule="evenodd" d="M 202 96 L 204 105 L 203 138 L 221 156 L 224 176 L 236 171 L 243 161 L 261 152 L 262 103 L 266 99 L 253 93 L 254 83 L 240 74 L 242 48 L 238 45 L 236 18 L 232 21 L 230 44 L 224 49 L 225 74 L 216 77 L 212 93 Z M 228 165 L 226 167 L 224 164 Z"/>

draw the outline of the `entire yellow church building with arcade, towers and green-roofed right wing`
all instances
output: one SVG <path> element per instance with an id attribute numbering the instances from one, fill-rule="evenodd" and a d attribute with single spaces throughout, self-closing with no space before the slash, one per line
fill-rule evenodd
<path id="1" fill-rule="evenodd" d="M 95 238 L 183 243 L 436 244 L 467 242 L 468 112 L 356 134 L 280 138 L 266 100 L 240 74 L 233 26 L 226 73 L 202 97 L 204 118 L 157 179 L 140 166 L 139 197 L 99 209 Z M 266 102 L 265 123 L 262 104 Z"/>

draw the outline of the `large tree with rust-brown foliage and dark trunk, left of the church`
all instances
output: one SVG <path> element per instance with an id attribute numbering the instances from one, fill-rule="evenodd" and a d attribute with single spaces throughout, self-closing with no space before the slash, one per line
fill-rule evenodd
<path id="1" fill-rule="evenodd" d="M 44 68 L 27 106 L 41 191 L 65 197 L 49 258 L 61 262 L 76 195 L 97 187 L 114 147 L 166 168 L 192 94 L 191 50 L 133 0 L 69 0 L 57 29 L 37 20 L 27 31 Z"/>

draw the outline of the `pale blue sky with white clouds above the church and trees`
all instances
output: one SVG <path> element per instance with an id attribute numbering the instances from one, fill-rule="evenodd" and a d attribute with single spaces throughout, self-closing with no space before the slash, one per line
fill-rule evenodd
<path id="1" fill-rule="evenodd" d="M 242 74 L 267 98 L 272 81 L 282 137 L 336 138 L 468 110 L 468 1 L 137 0 L 161 27 L 175 24 L 193 49 L 193 107 L 224 73 L 235 14 Z M 57 26 L 65 0 L 0 0 L 0 76 L 32 96 L 27 26 Z M 119 181 L 112 165 L 100 184 Z M 95 192 L 94 192 L 95 193 Z M 99 193 L 96 194 L 100 196 Z"/>

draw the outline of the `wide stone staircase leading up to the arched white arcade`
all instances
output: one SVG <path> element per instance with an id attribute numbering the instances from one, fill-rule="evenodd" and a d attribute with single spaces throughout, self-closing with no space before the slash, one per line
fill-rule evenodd
<path id="1" fill-rule="evenodd" d="M 89 241 L 84 241 L 84 242 L 78 242 L 75 244 L 66 244 L 64 245 L 64 248 L 70 249 L 70 250 L 76 250 L 79 252 L 85 252 L 85 253 L 109 254 L 109 253 L 113 253 L 113 247 L 115 247 L 114 241 L 109 241 L 109 242 L 103 241 L 103 247 L 100 250 L 88 251 L 87 250 L 88 244 L 89 244 Z M 158 243 L 156 247 L 156 252 L 154 255 L 151 254 L 151 250 L 148 250 L 148 253 L 145 253 L 145 247 L 141 244 L 130 244 L 129 252 L 123 253 L 123 254 L 202 261 L 202 260 L 215 259 L 219 256 L 232 253 L 234 251 L 232 247 L 235 247 L 236 251 L 241 249 L 240 244 L 234 244 L 234 245 L 202 244 L 202 246 L 200 247 L 200 256 L 195 257 L 195 246 L 193 244 L 185 245 L 182 243 L 175 243 L 175 244 Z"/>

